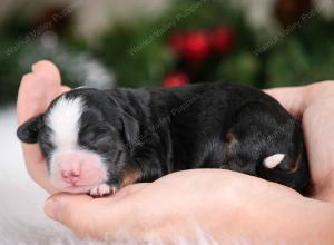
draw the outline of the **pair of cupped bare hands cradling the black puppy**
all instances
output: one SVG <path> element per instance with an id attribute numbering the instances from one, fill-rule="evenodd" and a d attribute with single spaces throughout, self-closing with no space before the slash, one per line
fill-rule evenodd
<path id="1" fill-rule="evenodd" d="M 46 110 L 68 90 L 57 68 L 41 61 L 24 76 L 18 98 L 18 120 Z M 139 241 L 175 234 L 194 237 L 200 228 L 212 238 L 301 243 L 306 237 L 333 244 L 333 82 L 267 90 L 302 119 L 314 197 L 302 197 L 278 184 L 222 169 L 196 169 L 164 176 L 151 184 L 127 186 L 116 195 L 56 194 L 46 213 L 81 237 Z M 37 145 L 22 145 L 28 171 L 50 193 L 46 161 Z M 305 218 L 307 215 L 307 218 Z"/>

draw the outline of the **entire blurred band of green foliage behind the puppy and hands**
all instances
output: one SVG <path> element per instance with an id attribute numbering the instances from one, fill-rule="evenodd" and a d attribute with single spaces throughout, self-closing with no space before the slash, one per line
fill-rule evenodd
<path id="1" fill-rule="evenodd" d="M 160 86 L 181 62 L 168 46 L 170 35 L 219 26 L 234 30 L 235 46 L 227 55 L 215 55 L 200 66 L 190 67 L 187 72 L 193 82 L 223 80 L 263 88 L 333 79 L 333 21 L 315 12 L 302 24 L 282 30 L 275 43 L 256 53 L 258 47 L 266 45 L 257 41 L 266 33 L 252 29 L 243 11 L 232 2 L 175 0 L 163 13 L 118 22 L 95 46 L 72 36 L 70 26 L 51 50 L 40 46 L 38 38 L 24 42 L 31 24 L 24 16 L 13 13 L 0 29 L 0 102 L 16 98 L 21 76 L 39 59 L 53 60 L 68 85 L 79 85 L 80 71 L 73 63 L 81 61 L 75 57 L 86 53 L 115 75 L 117 86 Z M 17 49 L 8 55 L 12 47 Z"/>

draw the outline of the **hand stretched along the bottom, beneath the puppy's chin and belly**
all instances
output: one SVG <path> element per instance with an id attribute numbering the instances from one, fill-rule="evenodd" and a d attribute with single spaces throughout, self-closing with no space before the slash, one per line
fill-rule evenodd
<path id="1" fill-rule="evenodd" d="M 285 186 L 223 169 L 193 169 L 114 196 L 56 194 L 46 214 L 81 238 L 189 244 L 333 244 L 333 206 Z"/>

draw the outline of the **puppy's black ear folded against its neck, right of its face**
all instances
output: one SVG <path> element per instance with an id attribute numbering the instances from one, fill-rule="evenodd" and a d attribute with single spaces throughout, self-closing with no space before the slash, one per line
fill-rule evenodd
<path id="1" fill-rule="evenodd" d="M 127 144 L 136 144 L 139 137 L 139 124 L 134 117 L 131 117 L 126 111 L 124 111 L 122 114 L 122 128 Z"/>

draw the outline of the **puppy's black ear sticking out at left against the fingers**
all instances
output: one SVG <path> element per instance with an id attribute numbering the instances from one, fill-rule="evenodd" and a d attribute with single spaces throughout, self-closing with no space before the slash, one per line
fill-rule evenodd
<path id="1" fill-rule="evenodd" d="M 42 115 L 32 117 L 18 128 L 17 136 L 21 141 L 29 144 L 37 143 L 41 118 Z"/>

